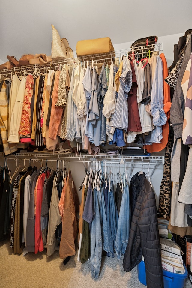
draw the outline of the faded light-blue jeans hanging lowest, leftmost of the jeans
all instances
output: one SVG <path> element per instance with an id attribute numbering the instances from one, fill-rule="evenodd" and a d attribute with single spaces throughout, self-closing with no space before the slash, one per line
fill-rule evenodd
<path id="1" fill-rule="evenodd" d="M 93 278 L 99 277 L 101 268 L 101 256 L 102 256 L 102 236 L 101 236 L 101 216 L 100 208 L 102 208 L 101 191 L 94 189 L 94 210 L 95 217 L 91 225 L 91 276 Z"/>

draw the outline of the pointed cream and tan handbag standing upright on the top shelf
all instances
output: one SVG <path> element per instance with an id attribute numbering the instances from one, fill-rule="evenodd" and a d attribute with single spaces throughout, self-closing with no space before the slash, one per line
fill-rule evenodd
<path id="1" fill-rule="evenodd" d="M 73 50 L 69 47 L 66 38 L 60 38 L 57 29 L 52 26 L 52 51 L 51 58 L 53 61 L 73 58 Z"/>

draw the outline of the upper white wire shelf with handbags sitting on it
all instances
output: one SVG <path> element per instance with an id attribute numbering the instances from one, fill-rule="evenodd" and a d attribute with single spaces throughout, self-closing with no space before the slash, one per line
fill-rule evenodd
<path id="1" fill-rule="evenodd" d="M 35 65 L 28 65 L 28 66 L 20 66 L 20 67 L 13 67 L 10 70 L 8 69 L 3 69 L 0 70 L 0 75 L 2 76 L 7 76 L 10 75 L 11 73 L 19 73 L 20 71 L 26 70 L 26 72 L 33 72 L 35 68 L 38 68 L 39 70 L 44 70 L 45 68 L 59 68 L 59 65 L 87 65 L 87 61 L 91 62 L 94 61 L 94 64 L 97 63 L 111 63 L 114 61 L 116 64 L 119 64 L 119 61 L 122 59 L 123 56 L 128 56 L 132 52 L 135 54 L 138 53 L 138 55 L 145 56 L 146 52 L 149 52 L 152 50 L 152 53 L 156 53 L 158 55 L 159 51 L 163 50 L 163 43 L 156 43 L 156 44 L 151 44 L 147 46 L 139 46 L 139 47 L 134 47 L 134 48 L 127 48 L 127 49 L 120 49 L 116 51 L 112 51 L 109 53 L 101 53 L 101 54 L 93 54 L 93 55 L 85 55 L 82 57 L 75 57 L 75 58 L 69 58 L 69 59 L 63 59 L 63 60 L 58 60 L 58 61 L 52 61 L 51 63 L 45 64 L 45 65 L 40 65 L 40 64 L 35 64 Z M 135 55 L 136 58 L 136 55 Z M 142 57 L 143 58 L 143 57 Z"/>

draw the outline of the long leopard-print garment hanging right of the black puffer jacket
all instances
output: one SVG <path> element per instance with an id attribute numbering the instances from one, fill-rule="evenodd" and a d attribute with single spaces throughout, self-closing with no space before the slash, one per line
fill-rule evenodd
<path id="1" fill-rule="evenodd" d="M 167 218 L 170 216 L 170 194 L 171 194 L 171 138 L 169 137 L 165 150 L 165 164 L 163 179 L 159 195 L 159 213 Z"/>

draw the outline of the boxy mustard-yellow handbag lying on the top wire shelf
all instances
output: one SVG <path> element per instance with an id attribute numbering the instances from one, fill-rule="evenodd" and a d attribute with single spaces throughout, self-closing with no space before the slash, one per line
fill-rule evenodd
<path id="1" fill-rule="evenodd" d="M 76 44 L 77 57 L 113 52 L 113 44 L 109 37 L 82 40 Z"/>

